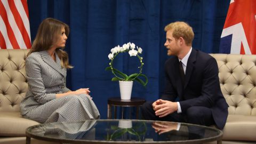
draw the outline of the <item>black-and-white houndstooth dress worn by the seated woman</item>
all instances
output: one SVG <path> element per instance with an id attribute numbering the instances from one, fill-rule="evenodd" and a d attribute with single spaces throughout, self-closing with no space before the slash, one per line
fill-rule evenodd
<path id="1" fill-rule="evenodd" d="M 66 68 L 54 61 L 47 51 L 33 52 L 26 59 L 28 92 L 21 101 L 21 115 L 39 123 L 99 119 L 99 110 L 89 95 L 70 94 L 56 98 L 66 87 Z"/>

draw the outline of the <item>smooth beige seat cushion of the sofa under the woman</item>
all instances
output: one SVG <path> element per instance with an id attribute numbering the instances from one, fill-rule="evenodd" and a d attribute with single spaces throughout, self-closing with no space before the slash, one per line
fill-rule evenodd
<path id="1" fill-rule="evenodd" d="M 36 121 L 21 117 L 20 112 L 0 113 L 0 135 L 5 137 L 26 136 L 26 129 L 29 126 L 39 124 Z"/>

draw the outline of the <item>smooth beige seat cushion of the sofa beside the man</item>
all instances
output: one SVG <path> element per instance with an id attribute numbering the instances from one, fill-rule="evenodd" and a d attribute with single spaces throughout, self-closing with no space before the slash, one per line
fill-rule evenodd
<path id="1" fill-rule="evenodd" d="M 255 116 L 228 115 L 222 139 L 256 141 L 255 133 Z"/>

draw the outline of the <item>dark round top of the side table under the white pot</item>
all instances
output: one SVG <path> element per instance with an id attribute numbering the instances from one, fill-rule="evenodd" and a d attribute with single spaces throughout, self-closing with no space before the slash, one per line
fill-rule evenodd
<path id="1" fill-rule="evenodd" d="M 146 100 L 142 98 L 131 98 L 130 100 L 122 100 L 120 97 L 109 98 L 108 105 L 113 106 L 141 106 Z"/>

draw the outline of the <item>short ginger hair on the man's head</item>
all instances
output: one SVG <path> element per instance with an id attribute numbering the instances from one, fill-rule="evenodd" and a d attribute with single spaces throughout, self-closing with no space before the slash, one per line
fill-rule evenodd
<path id="1" fill-rule="evenodd" d="M 192 27 L 186 22 L 177 21 L 172 22 L 165 26 L 164 31 L 173 30 L 172 36 L 175 39 L 182 37 L 185 40 L 186 45 L 191 46 L 194 39 L 194 32 Z"/>

